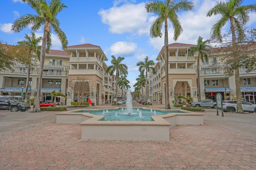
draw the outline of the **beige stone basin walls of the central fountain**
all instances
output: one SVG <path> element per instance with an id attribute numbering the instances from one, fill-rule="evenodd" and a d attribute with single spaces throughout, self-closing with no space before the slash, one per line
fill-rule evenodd
<path id="1" fill-rule="evenodd" d="M 74 111 L 79 110 L 82 109 Z M 99 110 L 103 111 L 103 109 Z M 82 125 L 82 140 L 169 142 L 170 127 L 175 125 L 203 125 L 204 115 L 186 111 L 186 113 L 151 116 L 154 121 L 100 121 L 104 119 L 104 115 L 74 113 L 74 111 L 56 113 L 56 122 L 66 124 L 79 123 Z"/>

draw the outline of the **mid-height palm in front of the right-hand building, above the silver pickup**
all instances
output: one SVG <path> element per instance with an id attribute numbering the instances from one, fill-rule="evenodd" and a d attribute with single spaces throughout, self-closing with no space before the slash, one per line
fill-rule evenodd
<path id="1" fill-rule="evenodd" d="M 198 57 L 197 57 L 197 89 L 198 89 L 198 100 L 201 100 L 201 92 L 200 92 L 200 64 L 199 64 L 199 59 L 204 62 L 204 59 L 206 62 L 208 61 L 208 54 L 210 53 L 210 48 L 211 46 L 209 45 L 210 41 L 206 40 L 203 41 L 202 37 L 198 37 L 197 40 L 197 46 L 196 47 L 191 47 L 190 49 L 190 55 L 194 55 L 196 52 L 198 52 Z"/>

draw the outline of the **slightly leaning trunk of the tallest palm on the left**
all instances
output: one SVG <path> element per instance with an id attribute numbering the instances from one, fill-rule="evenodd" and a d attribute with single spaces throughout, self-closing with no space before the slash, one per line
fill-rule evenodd
<path id="1" fill-rule="evenodd" d="M 40 98 L 41 98 L 41 88 L 42 88 L 42 78 L 43 78 L 43 70 L 44 70 L 44 60 L 45 60 L 45 50 L 46 50 L 46 40 L 47 34 L 50 30 L 50 23 L 48 21 L 45 22 L 44 25 L 44 36 L 42 39 L 42 47 L 40 53 L 40 67 L 38 72 L 38 84 L 37 84 L 37 92 L 36 92 L 36 106 L 35 112 L 40 112 Z"/>

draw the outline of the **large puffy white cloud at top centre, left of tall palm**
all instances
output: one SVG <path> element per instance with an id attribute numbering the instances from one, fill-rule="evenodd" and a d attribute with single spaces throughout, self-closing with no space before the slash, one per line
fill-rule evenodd
<path id="1" fill-rule="evenodd" d="M 103 23 L 110 26 L 111 33 L 148 33 L 149 24 L 147 22 L 148 13 L 145 9 L 145 3 L 140 4 L 123 4 L 120 7 L 112 7 L 108 10 L 100 10 Z"/>

